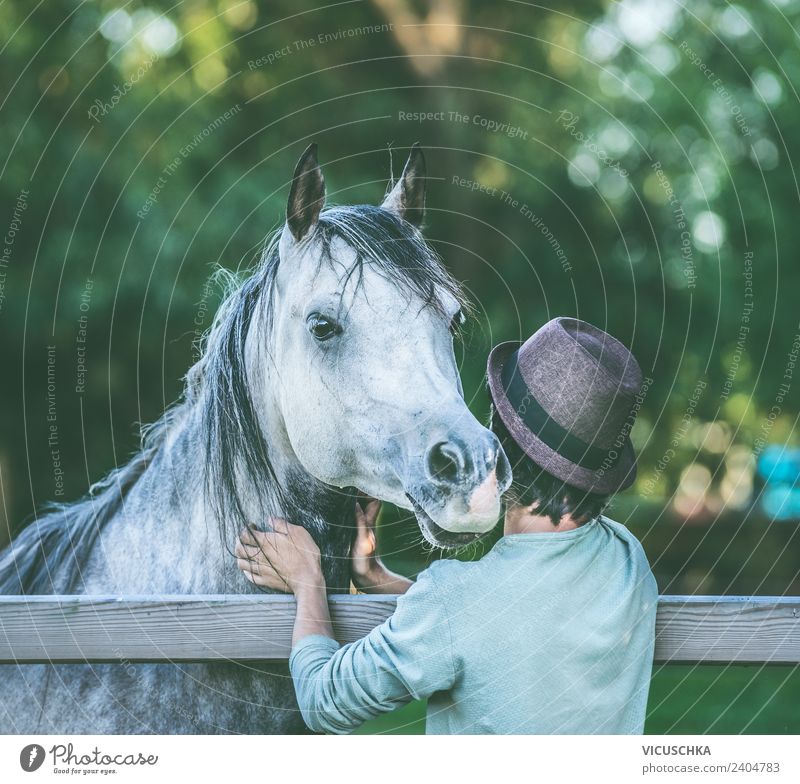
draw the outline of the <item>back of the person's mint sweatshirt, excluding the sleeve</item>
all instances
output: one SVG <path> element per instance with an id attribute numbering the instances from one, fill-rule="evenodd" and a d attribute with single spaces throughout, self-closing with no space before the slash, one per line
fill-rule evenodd
<path id="1" fill-rule="evenodd" d="M 642 732 L 658 591 L 624 526 L 505 536 L 429 572 L 456 669 L 429 733 Z"/>

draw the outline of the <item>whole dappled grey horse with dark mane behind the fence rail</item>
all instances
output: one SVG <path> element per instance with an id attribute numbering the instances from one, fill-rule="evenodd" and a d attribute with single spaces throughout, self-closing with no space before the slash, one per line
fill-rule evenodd
<path id="1" fill-rule="evenodd" d="M 231 556 L 270 515 L 309 529 L 349 587 L 356 488 L 452 547 L 489 531 L 510 468 L 461 394 L 459 288 L 425 244 L 415 148 L 381 207 L 322 211 L 309 147 L 283 230 L 218 313 L 182 402 L 142 451 L 0 555 L 0 593 L 253 590 Z M 285 665 L 4 665 L 3 733 L 283 733 Z"/>

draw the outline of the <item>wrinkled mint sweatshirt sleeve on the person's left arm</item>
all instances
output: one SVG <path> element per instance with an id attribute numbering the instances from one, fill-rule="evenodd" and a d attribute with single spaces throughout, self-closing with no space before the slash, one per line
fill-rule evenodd
<path id="1" fill-rule="evenodd" d="M 366 637 L 341 647 L 330 637 L 304 637 L 289 668 L 303 719 L 315 732 L 352 732 L 367 719 L 451 687 L 450 626 L 430 570 Z"/>

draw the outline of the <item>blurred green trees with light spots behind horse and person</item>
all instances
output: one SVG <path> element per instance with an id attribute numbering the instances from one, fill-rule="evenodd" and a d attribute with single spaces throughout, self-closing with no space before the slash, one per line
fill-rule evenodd
<path id="1" fill-rule="evenodd" d="M 82 494 L 179 396 L 215 265 L 257 260 L 309 141 L 347 203 L 378 202 L 420 141 L 426 234 L 478 306 L 475 413 L 492 344 L 555 315 L 603 327 L 647 378 L 613 514 L 662 591 L 800 593 L 798 18 L 797 0 L 4 4 L 0 528 Z M 432 557 L 417 538 L 385 511 L 395 566 Z"/>

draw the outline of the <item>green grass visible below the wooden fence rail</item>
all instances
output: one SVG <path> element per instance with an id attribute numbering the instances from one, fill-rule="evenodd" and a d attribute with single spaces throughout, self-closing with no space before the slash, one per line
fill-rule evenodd
<path id="1" fill-rule="evenodd" d="M 366 722 L 357 734 L 421 735 L 425 703 Z M 658 666 L 645 733 L 800 733 L 800 667 Z"/>

